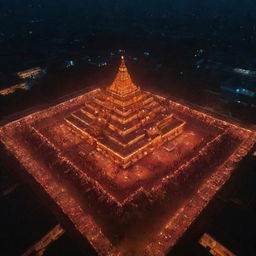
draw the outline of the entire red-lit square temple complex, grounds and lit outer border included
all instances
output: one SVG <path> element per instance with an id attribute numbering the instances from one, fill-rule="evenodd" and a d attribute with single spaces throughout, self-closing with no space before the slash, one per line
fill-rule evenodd
<path id="1" fill-rule="evenodd" d="M 123 57 L 110 85 L 0 127 L 1 157 L 102 256 L 170 252 L 255 141 L 141 89 Z"/>

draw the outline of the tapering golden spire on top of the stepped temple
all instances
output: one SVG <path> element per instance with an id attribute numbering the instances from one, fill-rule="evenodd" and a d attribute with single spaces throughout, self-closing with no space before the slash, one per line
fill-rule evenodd
<path id="1" fill-rule="evenodd" d="M 121 56 L 121 64 L 118 73 L 113 83 L 108 86 L 107 91 L 117 94 L 119 96 L 126 96 L 139 88 L 132 82 L 130 74 L 125 65 L 124 56 Z"/>

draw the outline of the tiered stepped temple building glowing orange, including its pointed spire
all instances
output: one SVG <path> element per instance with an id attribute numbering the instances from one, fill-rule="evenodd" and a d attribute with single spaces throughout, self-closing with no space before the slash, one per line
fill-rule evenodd
<path id="1" fill-rule="evenodd" d="M 65 120 L 123 168 L 181 134 L 185 125 L 164 98 L 132 82 L 123 57 L 113 83 Z"/>

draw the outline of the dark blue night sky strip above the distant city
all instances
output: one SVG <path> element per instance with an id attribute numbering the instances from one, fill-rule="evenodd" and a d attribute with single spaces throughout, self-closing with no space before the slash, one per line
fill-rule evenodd
<path id="1" fill-rule="evenodd" d="M 19 33 L 28 21 L 45 19 L 52 29 L 58 26 L 86 23 L 106 24 L 119 20 L 147 24 L 148 19 L 168 19 L 166 22 L 181 20 L 189 25 L 195 19 L 212 19 L 242 23 L 254 18 L 256 4 L 253 0 L 13 0 L 0 2 L 0 32 Z M 117 25 L 117 24 L 116 24 Z M 197 27 L 200 29 L 200 27 Z"/>

